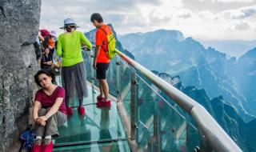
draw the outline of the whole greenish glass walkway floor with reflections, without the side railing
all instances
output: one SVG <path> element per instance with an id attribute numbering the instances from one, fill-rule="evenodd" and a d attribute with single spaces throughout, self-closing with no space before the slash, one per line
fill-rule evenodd
<path id="1" fill-rule="evenodd" d="M 72 99 L 74 114 L 58 128 L 54 151 L 130 151 L 116 102 L 111 100 L 110 109 L 97 108 L 98 90 L 91 88 L 88 85 L 89 95 L 84 98 L 85 116 L 78 114 L 78 99 Z"/>

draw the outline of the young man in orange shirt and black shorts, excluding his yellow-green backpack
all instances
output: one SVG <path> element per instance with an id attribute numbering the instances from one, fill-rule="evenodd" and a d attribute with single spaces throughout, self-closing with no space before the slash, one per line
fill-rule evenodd
<path id="1" fill-rule="evenodd" d="M 96 78 L 99 82 L 100 94 L 97 97 L 96 105 L 111 106 L 109 99 L 109 86 L 106 81 L 106 70 L 110 65 L 110 58 L 107 57 L 108 51 L 106 34 L 111 34 L 112 30 L 110 26 L 107 26 L 103 22 L 101 14 L 94 13 L 90 16 L 90 22 L 97 28 L 95 34 L 95 52 L 94 52 L 94 70 L 96 70 Z M 104 97 L 103 97 L 104 94 Z"/>

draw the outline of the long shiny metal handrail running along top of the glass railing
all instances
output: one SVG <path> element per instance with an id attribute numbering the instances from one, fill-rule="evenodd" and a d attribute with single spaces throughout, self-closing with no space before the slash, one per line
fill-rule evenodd
<path id="1" fill-rule="evenodd" d="M 135 70 L 138 70 L 142 75 L 150 80 L 159 90 L 162 90 L 168 95 L 174 102 L 186 110 L 188 114 L 194 118 L 194 121 L 198 125 L 198 130 L 206 138 L 206 141 L 215 151 L 221 152 L 237 152 L 242 151 L 239 146 L 226 134 L 225 130 L 218 125 L 218 122 L 208 113 L 208 111 L 201 106 L 198 102 L 195 102 L 192 98 L 183 94 L 182 91 L 171 86 L 169 83 L 153 74 L 150 70 L 147 70 L 144 66 L 135 62 L 133 59 L 123 54 L 116 49 L 116 53 L 126 61 L 130 66 L 133 66 Z"/>

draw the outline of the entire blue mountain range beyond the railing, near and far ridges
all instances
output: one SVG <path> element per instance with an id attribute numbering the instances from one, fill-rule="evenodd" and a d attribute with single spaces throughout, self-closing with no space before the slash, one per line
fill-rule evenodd
<path id="1" fill-rule="evenodd" d="M 94 42 L 95 30 L 85 34 Z M 251 85 L 256 84 L 256 49 L 227 58 L 213 47 L 206 49 L 193 38 L 184 38 L 178 30 L 123 35 L 117 48 L 202 104 L 243 151 L 256 151 Z"/>

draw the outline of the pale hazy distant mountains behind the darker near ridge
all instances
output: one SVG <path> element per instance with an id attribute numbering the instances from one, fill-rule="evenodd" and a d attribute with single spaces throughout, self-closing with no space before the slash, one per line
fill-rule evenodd
<path id="1" fill-rule="evenodd" d="M 165 72 L 171 76 L 179 75 L 185 86 L 195 86 L 206 90 L 209 98 L 223 96 L 232 103 L 238 114 L 250 122 L 256 115 L 255 99 L 251 95 L 254 86 L 243 83 L 246 77 L 241 72 L 254 74 L 255 50 L 245 54 L 251 64 L 244 64 L 241 58 L 227 58 L 226 54 L 212 47 L 205 48 L 193 38 L 185 38 L 178 30 L 156 30 L 148 33 L 126 34 L 119 38 L 122 46 L 134 54 L 137 62 L 150 70 Z M 239 66 L 239 65 L 241 65 Z M 246 71 L 238 70 L 246 69 Z M 239 81 L 240 80 L 240 81 Z M 246 88 L 246 89 L 244 89 Z M 248 94 L 245 94 L 249 91 Z"/>

